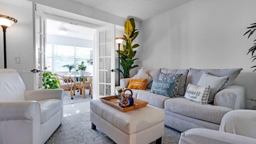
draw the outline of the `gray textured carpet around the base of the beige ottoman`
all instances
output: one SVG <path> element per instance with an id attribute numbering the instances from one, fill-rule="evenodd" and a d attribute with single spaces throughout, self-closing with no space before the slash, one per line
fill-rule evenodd
<path id="1" fill-rule="evenodd" d="M 45 144 L 115 144 L 100 129 L 92 130 L 91 126 L 90 112 L 64 117 L 62 125 Z M 168 126 L 164 130 L 162 144 L 178 144 L 180 132 Z"/>

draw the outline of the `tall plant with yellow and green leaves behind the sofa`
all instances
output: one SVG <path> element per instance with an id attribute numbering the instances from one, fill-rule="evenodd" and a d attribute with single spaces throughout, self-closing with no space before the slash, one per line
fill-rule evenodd
<path id="1" fill-rule="evenodd" d="M 131 18 L 130 20 L 126 20 L 124 24 L 124 32 L 126 34 L 124 36 L 124 40 L 126 41 L 126 45 L 123 45 L 123 50 L 116 50 L 117 53 L 120 54 L 120 65 L 123 68 L 123 71 L 118 69 L 117 70 L 123 74 L 124 78 L 130 78 L 130 70 L 133 68 L 138 67 L 138 65 L 133 65 L 134 60 L 138 60 L 138 58 L 134 58 L 136 55 L 137 50 L 133 50 L 140 46 L 139 44 L 132 45 L 134 39 L 138 36 L 139 32 L 135 29 L 135 22 L 134 19 Z"/>

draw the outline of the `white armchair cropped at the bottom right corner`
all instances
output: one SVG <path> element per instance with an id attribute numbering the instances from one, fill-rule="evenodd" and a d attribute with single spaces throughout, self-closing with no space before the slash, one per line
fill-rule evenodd
<path id="1" fill-rule="evenodd" d="M 256 144 L 256 110 L 232 110 L 222 118 L 219 131 L 187 130 L 179 144 Z"/>

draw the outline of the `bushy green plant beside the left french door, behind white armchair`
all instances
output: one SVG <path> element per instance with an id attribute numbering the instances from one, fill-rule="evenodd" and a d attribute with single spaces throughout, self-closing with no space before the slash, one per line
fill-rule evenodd
<path id="1" fill-rule="evenodd" d="M 50 67 L 50 66 L 48 66 Z M 57 74 L 52 73 L 51 71 L 48 71 L 48 67 L 44 68 L 44 72 L 42 74 L 43 78 L 42 78 L 42 82 L 44 89 L 57 89 L 60 88 L 58 86 L 58 84 L 60 83 L 60 81 L 57 80 L 57 78 L 55 78 L 54 76 L 57 76 Z"/>

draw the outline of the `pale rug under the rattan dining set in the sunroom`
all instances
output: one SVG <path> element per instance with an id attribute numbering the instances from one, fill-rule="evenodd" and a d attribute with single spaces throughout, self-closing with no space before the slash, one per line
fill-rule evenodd
<path id="1" fill-rule="evenodd" d="M 73 100 L 71 100 L 70 91 L 64 91 L 63 105 L 91 101 L 92 97 L 91 97 L 91 95 L 89 95 L 88 88 L 85 89 L 85 96 L 86 96 L 86 98 L 83 98 L 83 95 L 80 94 L 80 92 L 77 92 L 77 90 L 76 90 L 76 95 L 74 95 Z"/>

